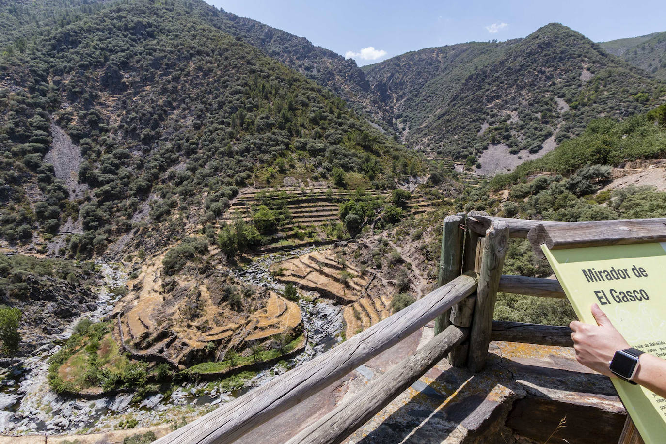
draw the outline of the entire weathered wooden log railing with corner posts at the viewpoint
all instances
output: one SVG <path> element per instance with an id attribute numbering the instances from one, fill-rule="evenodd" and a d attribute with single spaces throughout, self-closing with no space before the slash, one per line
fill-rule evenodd
<path id="1" fill-rule="evenodd" d="M 649 234 L 652 231 L 641 231 L 643 226 L 661 224 L 663 227 L 666 220 L 652 221 L 629 224 L 633 227 L 629 228 L 630 234 L 639 238 L 638 242 L 655 241 Z M 627 224 L 616 225 L 615 228 L 620 230 L 627 227 Z M 466 366 L 472 371 L 480 371 L 486 363 L 488 345 L 492 340 L 571 346 L 571 331 L 567 327 L 499 322 L 493 320 L 493 315 L 498 292 L 565 298 L 557 280 L 501 274 L 510 237 L 527 238 L 530 234 L 533 244 L 543 240 L 551 242 L 555 248 L 565 244 L 571 246 L 571 242 L 567 244 L 571 237 L 562 233 L 568 230 L 576 236 L 583 226 L 597 230 L 600 224 L 494 218 L 482 212 L 448 216 L 444 220 L 436 290 L 326 353 L 166 435 L 157 443 L 231 443 L 432 320 L 436 320 L 434 339 L 372 381 L 356 397 L 309 425 L 289 443 L 340 443 L 443 357 L 448 357 L 455 367 Z M 666 240 L 666 236 L 658 240 Z M 612 233 L 600 230 L 599 242 L 622 241 Z"/>

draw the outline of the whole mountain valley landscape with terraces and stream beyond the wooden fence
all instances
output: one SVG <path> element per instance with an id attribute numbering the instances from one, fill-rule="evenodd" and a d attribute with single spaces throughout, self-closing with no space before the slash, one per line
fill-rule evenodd
<path id="1" fill-rule="evenodd" d="M 184 426 L 435 290 L 446 216 L 666 216 L 662 33 L 594 43 L 550 23 L 359 67 L 200 0 L 21 0 L 0 4 L 0 29 L 0 443 Z M 519 239 L 504 269 L 552 274 Z M 508 293 L 495 314 L 575 317 Z M 273 438 L 433 329 L 283 414 Z M 525 397 L 507 359 L 576 365 L 563 347 L 491 351 L 501 401 Z M 450 367 L 368 439 L 393 413 L 457 405 L 436 382 Z"/>

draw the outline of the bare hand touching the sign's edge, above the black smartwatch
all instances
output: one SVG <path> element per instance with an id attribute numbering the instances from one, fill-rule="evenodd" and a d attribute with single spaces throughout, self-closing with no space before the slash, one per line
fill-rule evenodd
<path id="1" fill-rule="evenodd" d="M 573 339 L 576 360 L 585 367 L 611 376 L 613 373 L 608 368 L 608 362 L 613 359 L 615 351 L 629 348 L 630 345 L 613 327 L 611 320 L 597 304 L 592 304 L 591 309 L 598 326 L 583 324 L 579 321 L 569 324 L 569 328 L 573 330 L 571 339 Z"/>

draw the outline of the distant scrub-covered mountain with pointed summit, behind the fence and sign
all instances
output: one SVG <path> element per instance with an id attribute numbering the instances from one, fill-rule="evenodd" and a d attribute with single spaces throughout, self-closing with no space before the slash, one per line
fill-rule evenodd
<path id="1" fill-rule="evenodd" d="M 525 39 L 422 49 L 363 71 L 406 143 L 455 158 L 489 146 L 502 155 L 550 150 L 592 118 L 645 111 L 666 91 L 557 23 Z"/>

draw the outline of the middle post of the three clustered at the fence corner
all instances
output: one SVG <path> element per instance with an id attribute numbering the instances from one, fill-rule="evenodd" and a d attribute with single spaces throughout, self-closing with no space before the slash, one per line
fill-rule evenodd
<path id="1" fill-rule="evenodd" d="M 474 218 L 474 216 L 483 215 L 488 216 L 486 212 L 471 211 L 467 218 Z M 465 225 L 467 226 L 467 218 Z M 462 256 L 462 272 L 473 271 L 478 273 L 478 252 L 480 251 L 479 244 L 482 237 L 472 230 L 465 230 L 465 244 Z M 472 326 L 472 316 L 474 315 L 474 304 L 476 304 L 476 293 L 468 296 L 461 302 L 458 302 L 451 309 L 450 324 L 460 327 L 469 328 Z M 464 367 L 467 364 L 467 357 L 469 353 L 469 341 L 464 341 L 460 345 L 454 347 L 448 355 L 448 361 L 454 367 Z"/>

